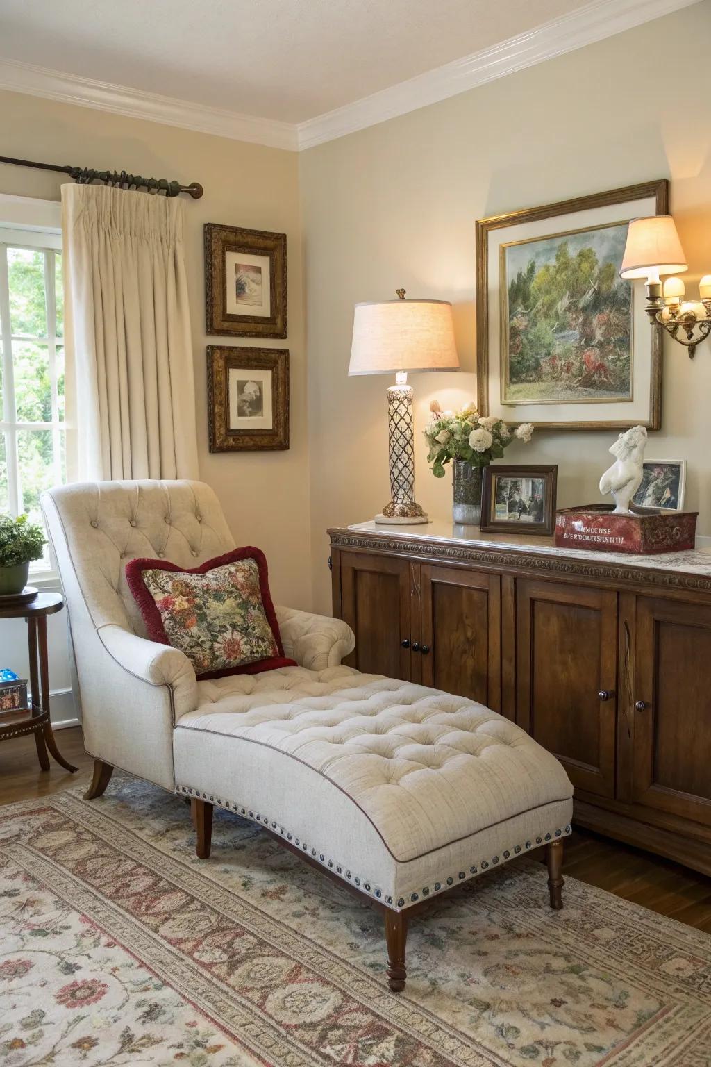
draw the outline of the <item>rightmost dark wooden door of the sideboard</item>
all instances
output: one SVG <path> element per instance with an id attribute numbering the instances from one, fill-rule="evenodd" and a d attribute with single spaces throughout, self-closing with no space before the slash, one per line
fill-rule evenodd
<path id="1" fill-rule="evenodd" d="M 711 826 L 711 607 L 641 596 L 633 799 Z"/>

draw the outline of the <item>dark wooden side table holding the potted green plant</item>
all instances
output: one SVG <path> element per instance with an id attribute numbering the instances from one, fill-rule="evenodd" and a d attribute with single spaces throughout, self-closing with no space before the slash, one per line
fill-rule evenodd
<path id="1" fill-rule="evenodd" d="M 0 717 L 0 742 L 11 737 L 34 734 L 37 759 L 43 770 L 49 770 L 49 749 L 52 758 L 67 770 L 75 771 L 64 759 L 54 739 L 49 721 L 49 664 L 47 655 L 47 616 L 61 611 L 64 600 L 61 593 L 39 592 L 34 600 L 15 607 L 3 606 L 0 600 L 0 619 L 25 619 L 27 622 L 28 650 L 30 653 L 30 691 L 32 706 L 11 712 Z"/>

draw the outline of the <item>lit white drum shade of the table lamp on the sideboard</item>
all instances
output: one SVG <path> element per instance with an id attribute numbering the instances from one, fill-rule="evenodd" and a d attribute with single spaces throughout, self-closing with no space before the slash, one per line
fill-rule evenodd
<path id="1" fill-rule="evenodd" d="M 457 370 L 452 305 L 445 300 L 356 304 L 349 375 Z"/>

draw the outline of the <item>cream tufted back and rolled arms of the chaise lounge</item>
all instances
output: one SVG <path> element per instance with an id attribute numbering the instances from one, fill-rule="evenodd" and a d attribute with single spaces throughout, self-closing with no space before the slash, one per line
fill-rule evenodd
<path id="1" fill-rule="evenodd" d="M 198 481 L 79 482 L 46 493 L 43 508 L 69 612 L 84 744 L 173 789 L 173 722 L 197 706 L 197 682 L 187 656 L 146 640 L 125 568 L 139 556 L 197 567 L 233 548 L 217 498 Z M 343 622 L 276 611 L 287 654 L 300 663 L 339 663 L 353 648 Z"/>

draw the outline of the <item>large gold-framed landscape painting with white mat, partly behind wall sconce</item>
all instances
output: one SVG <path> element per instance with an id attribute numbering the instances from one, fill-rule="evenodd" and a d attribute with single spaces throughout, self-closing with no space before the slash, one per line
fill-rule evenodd
<path id="1" fill-rule="evenodd" d="M 619 277 L 630 219 L 665 179 L 476 223 L 479 410 L 539 427 L 659 429 L 661 331 Z"/>

